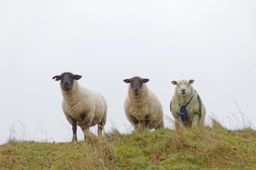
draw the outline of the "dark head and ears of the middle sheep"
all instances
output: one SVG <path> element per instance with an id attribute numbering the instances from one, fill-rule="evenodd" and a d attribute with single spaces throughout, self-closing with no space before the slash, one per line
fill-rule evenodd
<path id="1" fill-rule="evenodd" d="M 142 83 L 148 82 L 149 79 L 143 79 L 140 77 L 133 77 L 131 79 L 124 79 L 124 82 L 131 83 L 131 89 L 135 95 L 138 95 L 142 90 Z"/>

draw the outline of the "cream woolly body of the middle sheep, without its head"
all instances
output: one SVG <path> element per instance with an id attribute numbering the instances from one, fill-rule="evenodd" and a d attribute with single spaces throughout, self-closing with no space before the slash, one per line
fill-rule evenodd
<path id="1" fill-rule="evenodd" d="M 145 127 L 145 116 L 148 116 L 150 129 L 164 127 L 162 105 L 145 83 L 142 84 L 142 91 L 138 95 L 134 95 L 131 84 L 129 85 L 125 99 L 125 115 L 132 125 L 132 119 L 135 118 Z"/>

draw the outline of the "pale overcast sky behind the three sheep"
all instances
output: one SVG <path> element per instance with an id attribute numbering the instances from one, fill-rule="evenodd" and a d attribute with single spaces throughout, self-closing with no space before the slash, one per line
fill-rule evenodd
<path id="1" fill-rule="evenodd" d="M 207 117 L 212 112 L 229 127 L 224 117 L 233 113 L 241 123 L 237 101 L 256 125 L 255 30 L 254 0 L 1 0 L 0 143 L 13 125 L 20 139 L 71 140 L 52 80 L 65 71 L 105 96 L 105 130 L 111 119 L 120 132 L 131 130 L 123 79 L 134 76 L 150 79 L 171 117 L 171 81 L 195 79 Z"/>

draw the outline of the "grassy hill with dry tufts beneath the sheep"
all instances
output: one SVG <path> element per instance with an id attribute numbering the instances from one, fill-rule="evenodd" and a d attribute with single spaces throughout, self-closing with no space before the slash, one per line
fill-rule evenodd
<path id="1" fill-rule="evenodd" d="M 0 146 L 1 169 L 256 169 L 256 131 L 212 127 L 141 129 L 69 143 L 10 141 Z"/>

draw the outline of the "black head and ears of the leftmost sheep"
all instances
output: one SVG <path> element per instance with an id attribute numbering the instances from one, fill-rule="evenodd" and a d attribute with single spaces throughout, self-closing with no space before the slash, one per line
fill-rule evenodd
<path id="1" fill-rule="evenodd" d="M 60 76 L 52 77 L 56 81 L 61 80 L 63 90 L 70 90 L 73 87 L 73 81 L 81 79 L 81 76 L 72 73 L 62 73 Z"/>

